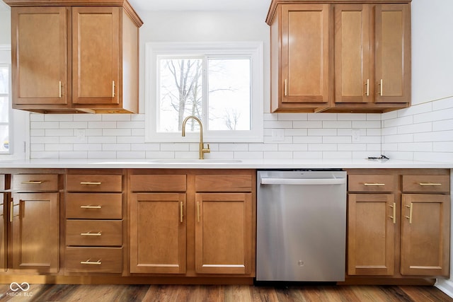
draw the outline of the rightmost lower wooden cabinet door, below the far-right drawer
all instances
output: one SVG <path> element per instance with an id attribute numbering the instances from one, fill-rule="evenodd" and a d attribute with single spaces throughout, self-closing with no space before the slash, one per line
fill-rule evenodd
<path id="1" fill-rule="evenodd" d="M 450 197 L 403 194 L 401 274 L 449 275 Z"/>

